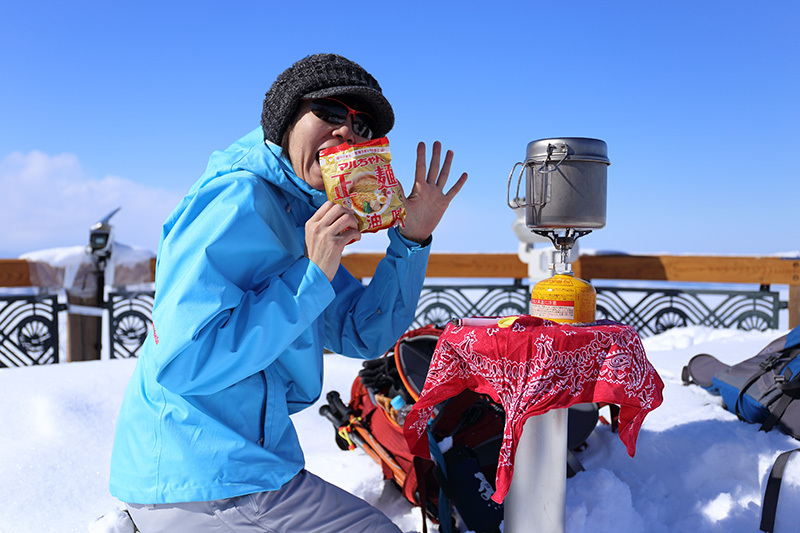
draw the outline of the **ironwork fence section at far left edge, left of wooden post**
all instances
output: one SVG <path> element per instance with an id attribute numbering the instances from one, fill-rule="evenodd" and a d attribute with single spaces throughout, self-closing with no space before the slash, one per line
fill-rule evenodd
<path id="1" fill-rule="evenodd" d="M 0 296 L 0 367 L 58 363 L 57 295 Z"/>

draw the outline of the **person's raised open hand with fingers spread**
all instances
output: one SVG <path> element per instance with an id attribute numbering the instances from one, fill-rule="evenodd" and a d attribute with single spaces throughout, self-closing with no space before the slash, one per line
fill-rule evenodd
<path id="1" fill-rule="evenodd" d="M 444 212 L 455 198 L 458 191 L 467 181 L 467 173 L 463 173 L 455 185 L 447 193 L 444 187 L 450 174 L 453 152 L 448 150 L 440 169 L 442 145 L 433 143 L 430 168 L 425 166 L 425 143 L 417 145 L 417 169 L 414 187 L 405 199 L 405 226 L 399 228 L 406 239 L 422 243 L 428 239 L 439 224 Z"/>

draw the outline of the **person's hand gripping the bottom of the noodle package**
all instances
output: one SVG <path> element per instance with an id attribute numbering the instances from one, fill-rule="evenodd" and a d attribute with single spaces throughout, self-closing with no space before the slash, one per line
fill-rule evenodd
<path id="1" fill-rule="evenodd" d="M 306 222 L 306 257 L 333 281 L 342 261 L 344 247 L 361 240 L 352 212 L 327 201 Z"/>

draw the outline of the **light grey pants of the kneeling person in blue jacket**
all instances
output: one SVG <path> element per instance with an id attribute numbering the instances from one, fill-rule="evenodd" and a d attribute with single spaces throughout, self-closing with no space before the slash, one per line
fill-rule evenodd
<path id="1" fill-rule="evenodd" d="M 364 500 L 305 470 L 269 492 L 208 502 L 126 505 L 142 533 L 401 533 Z"/>

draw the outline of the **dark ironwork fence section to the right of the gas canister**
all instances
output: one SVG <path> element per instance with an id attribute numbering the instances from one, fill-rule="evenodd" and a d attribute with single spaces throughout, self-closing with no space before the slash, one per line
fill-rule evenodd
<path id="1" fill-rule="evenodd" d="M 643 337 L 680 326 L 777 329 L 777 292 L 595 287 L 597 317 L 629 324 Z"/>

